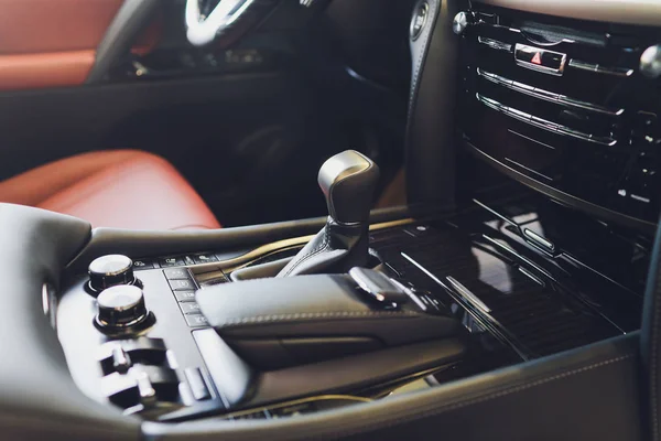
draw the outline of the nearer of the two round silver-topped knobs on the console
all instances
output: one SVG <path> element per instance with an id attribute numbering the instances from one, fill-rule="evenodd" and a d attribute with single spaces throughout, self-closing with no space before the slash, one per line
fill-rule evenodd
<path id="1" fill-rule="evenodd" d="M 99 312 L 96 324 L 104 330 L 128 331 L 153 318 L 147 310 L 142 290 L 136 286 L 118 284 L 108 288 L 101 291 L 97 303 Z"/>

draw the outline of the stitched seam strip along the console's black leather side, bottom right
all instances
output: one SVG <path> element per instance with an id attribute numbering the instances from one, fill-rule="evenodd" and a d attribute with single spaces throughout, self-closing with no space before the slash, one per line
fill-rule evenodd
<path id="1" fill-rule="evenodd" d="M 388 421 L 379 421 L 379 422 L 373 422 L 370 424 L 365 424 L 359 429 L 351 429 L 351 430 L 346 430 L 346 431 L 338 431 L 338 432 L 334 432 L 328 439 L 338 439 L 338 438 L 343 438 L 343 437 L 348 437 L 351 434 L 357 434 L 357 433 L 364 433 L 366 431 L 369 430 L 378 430 L 378 429 L 384 429 L 384 428 L 390 428 L 393 426 L 398 426 L 400 423 L 403 422 L 411 422 L 411 421 L 415 421 L 422 418 L 426 418 L 426 417 L 434 417 L 434 416 L 438 416 L 438 415 L 443 415 L 445 412 L 452 411 L 452 410 L 456 410 L 456 409 L 460 409 L 470 405 L 476 405 L 479 402 L 485 402 L 485 401 L 489 401 L 492 400 L 495 398 L 500 398 L 500 397 L 505 397 L 508 395 L 512 395 L 512 394 L 517 394 L 523 390 L 528 390 L 530 388 L 537 387 L 537 386 L 541 386 L 551 381 L 555 381 L 559 379 L 563 379 L 563 378 L 567 378 L 571 377 L 573 375 L 576 374 L 581 374 L 587 370 L 592 370 L 592 369 L 596 369 L 599 367 L 604 367 L 604 366 L 608 366 L 615 363 L 619 363 L 622 362 L 625 359 L 635 357 L 636 354 L 627 354 L 627 355 L 622 355 L 616 358 L 610 358 L 610 359 L 606 359 L 599 363 L 594 363 L 592 365 L 588 366 L 584 366 L 577 369 L 573 369 L 573 370 L 567 370 L 561 374 L 555 374 L 552 376 L 549 376 L 546 378 L 541 378 L 534 381 L 530 381 L 530 383 L 525 383 L 519 386 L 512 386 L 512 387 L 508 387 L 505 388 L 502 390 L 492 392 L 492 394 L 488 394 L 485 395 L 483 397 L 478 397 L 478 398 L 473 398 L 473 399 L 468 399 L 468 400 L 464 400 L 464 401 L 457 401 L 457 402 L 453 402 L 446 406 L 440 405 L 437 407 L 434 407 L 431 410 L 426 410 L 426 411 L 421 411 L 419 413 L 416 413 L 414 417 L 400 417 L 400 418 L 391 418 Z"/>

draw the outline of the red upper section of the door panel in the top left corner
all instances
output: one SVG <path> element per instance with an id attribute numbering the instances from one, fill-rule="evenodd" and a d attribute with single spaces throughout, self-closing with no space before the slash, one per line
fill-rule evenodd
<path id="1" fill-rule="evenodd" d="M 0 0 L 0 90 L 80 85 L 123 0 Z M 153 47 L 152 26 L 136 50 Z"/>

